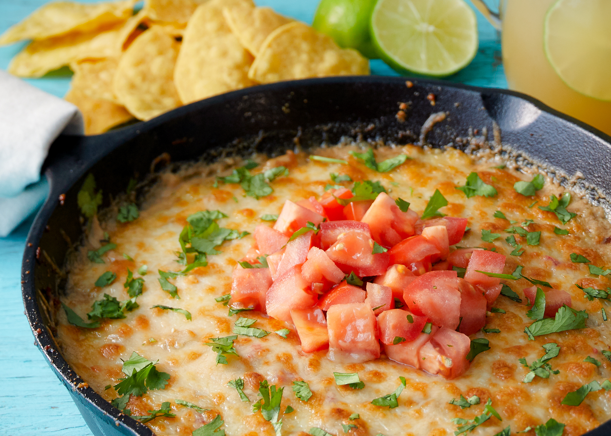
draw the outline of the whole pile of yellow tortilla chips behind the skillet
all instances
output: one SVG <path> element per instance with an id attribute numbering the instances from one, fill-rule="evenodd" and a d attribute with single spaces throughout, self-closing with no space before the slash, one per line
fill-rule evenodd
<path id="1" fill-rule="evenodd" d="M 137 0 L 46 4 L 0 45 L 32 40 L 9 72 L 41 77 L 69 65 L 65 99 L 87 134 L 255 84 L 368 74 L 367 59 L 252 0 Z"/>

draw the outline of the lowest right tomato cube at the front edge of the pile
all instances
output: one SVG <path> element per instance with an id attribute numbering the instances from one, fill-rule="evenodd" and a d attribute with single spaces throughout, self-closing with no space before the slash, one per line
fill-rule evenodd
<path id="1" fill-rule="evenodd" d="M 442 327 L 418 353 L 420 368 L 451 380 L 469 368 L 469 336 Z"/>

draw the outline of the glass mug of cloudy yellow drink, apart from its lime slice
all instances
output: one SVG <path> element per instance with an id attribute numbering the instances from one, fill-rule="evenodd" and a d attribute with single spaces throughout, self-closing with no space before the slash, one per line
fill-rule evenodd
<path id="1" fill-rule="evenodd" d="M 500 0 L 499 13 L 492 12 L 483 0 L 471 1 L 502 31 L 503 67 L 510 89 L 611 135 L 611 101 L 596 100 L 569 88 L 544 53 L 544 18 L 556 0 Z"/>

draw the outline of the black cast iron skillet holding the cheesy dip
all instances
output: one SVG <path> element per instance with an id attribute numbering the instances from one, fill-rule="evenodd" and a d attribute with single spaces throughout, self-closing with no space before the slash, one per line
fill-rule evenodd
<path id="1" fill-rule="evenodd" d="M 343 136 L 406 144 L 419 140 L 430 114 L 446 111 L 448 117 L 426 137 L 431 146 L 498 145 L 500 128 L 503 146 L 547 165 L 559 180 L 566 182 L 566 177 L 581 172 L 579 183 L 598 189 L 598 194 L 590 192 L 594 203 L 606 201 L 599 194 L 611 194 L 611 137 L 515 92 L 413 82 L 411 88 L 404 78 L 375 76 L 280 82 L 208 98 L 111 133 L 56 140 L 44 170 L 50 194 L 23 255 L 23 301 L 35 344 L 94 435 L 153 433 L 83 384 L 53 338 L 53 313 L 65 283 L 60 268 L 68 249 L 82 236 L 76 194 L 90 172 L 104 192 L 105 207 L 111 195 L 125 191 L 130 178 L 142 180 L 154 170 L 151 162 L 158 156 L 163 157 L 155 162 L 163 164 L 168 158 L 211 161 L 253 151 L 273 155 L 321 141 L 332 145 Z M 435 96 L 434 106 L 426 99 L 429 93 Z M 395 117 L 399 102 L 411 102 L 403 123 Z M 611 421 L 588 436 L 609 434 Z"/>

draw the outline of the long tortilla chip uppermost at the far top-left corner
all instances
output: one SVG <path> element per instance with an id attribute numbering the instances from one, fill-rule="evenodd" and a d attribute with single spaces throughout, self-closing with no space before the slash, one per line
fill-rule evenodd
<path id="1" fill-rule="evenodd" d="M 40 40 L 68 32 L 91 33 L 122 23 L 133 13 L 137 0 L 82 4 L 70 1 L 48 3 L 0 36 L 0 45 L 24 39 Z"/>

